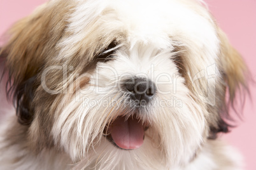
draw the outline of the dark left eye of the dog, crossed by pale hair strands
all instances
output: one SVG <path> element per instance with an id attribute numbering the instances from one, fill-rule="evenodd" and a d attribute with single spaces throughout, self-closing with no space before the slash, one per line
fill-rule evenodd
<path id="1" fill-rule="evenodd" d="M 117 49 L 117 43 L 111 42 L 110 45 L 103 50 L 101 54 L 97 56 L 97 62 L 108 62 L 114 58 L 115 49 Z"/>

